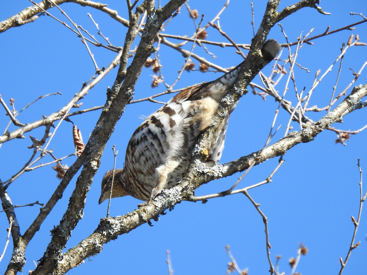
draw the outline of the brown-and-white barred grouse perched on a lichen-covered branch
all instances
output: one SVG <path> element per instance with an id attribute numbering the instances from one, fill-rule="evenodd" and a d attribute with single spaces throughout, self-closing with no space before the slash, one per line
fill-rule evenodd
<path id="1" fill-rule="evenodd" d="M 252 68 L 254 77 L 276 57 L 280 45 L 269 39 L 262 47 L 262 64 Z M 228 94 L 244 62 L 214 81 L 184 88 L 159 110 L 145 118 L 127 145 L 123 169 L 109 170 L 102 179 L 99 204 L 130 195 L 141 201 L 155 198 L 179 183 L 201 132 L 210 125 L 221 100 Z M 238 101 L 237 101 L 238 102 Z M 230 113 L 217 126 L 208 145 L 207 165 L 221 158 Z"/>

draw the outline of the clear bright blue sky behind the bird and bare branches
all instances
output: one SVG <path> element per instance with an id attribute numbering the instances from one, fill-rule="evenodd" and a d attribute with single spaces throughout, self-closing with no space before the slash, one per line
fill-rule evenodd
<path id="1" fill-rule="evenodd" d="M 123 1 L 102 1 L 109 8 L 116 9 L 119 15 L 127 18 L 126 4 Z M 223 3 L 222 3 L 223 2 Z M 280 7 L 286 7 L 295 1 L 282 1 Z M 224 1 L 190 1 L 189 5 L 204 13 L 204 23 L 210 21 L 222 8 Z M 16 14 L 31 3 L 25 0 L 0 2 L 0 20 Z M 255 28 L 259 26 L 266 1 L 254 1 Z M 321 15 L 316 10 L 304 8 L 284 19 L 281 24 L 290 41 L 296 41 L 299 35 L 304 35 L 315 28 L 311 36 L 323 33 L 330 25 L 330 30 L 361 21 L 358 15 L 367 15 L 366 6 L 360 1 L 321 1 L 320 6 L 331 15 Z M 99 24 L 102 33 L 109 37 L 111 43 L 122 46 L 126 27 L 114 22 L 108 15 L 97 10 L 81 7 L 77 4 L 63 4 L 62 9 L 85 29 L 97 37 L 94 25 L 87 13 L 91 13 Z M 55 8 L 50 12 L 65 21 Z M 250 1 L 230 1 L 228 8 L 221 15 L 222 29 L 237 43 L 250 43 L 252 38 Z M 195 26 L 186 8 L 165 28 L 165 33 L 191 36 Z M 356 26 L 355 30 L 338 32 L 327 37 L 314 40 L 314 45 L 304 45 L 299 51 L 297 62 L 308 68 L 296 69 L 298 90 L 305 87 L 308 91 L 312 85 L 315 73 L 321 69 L 321 74 L 335 61 L 340 54 L 341 43 L 346 43 L 350 34 L 359 34 L 361 42 L 367 42 L 366 23 Z M 269 38 L 275 38 L 285 43 L 285 38 L 279 26 L 273 27 Z M 98 38 L 99 39 L 99 38 Z M 100 39 L 102 40 L 102 39 Z M 208 29 L 208 40 L 224 41 L 215 29 Z M 175 40 L 171 40 L 175 41 Z M 40 95 L 61 92 L 62 95 L 48 96 L 32 104 L 17 118 L 22 123 L 32 122 L 49 115 L 64 106 L 81 88 L 81 82 L 86 82 L 94 73 L 94 66 L 86 48 L 80 39 L 54 19 L 44 16 L 33 23 L 14 27 L 0 34 L 0 62 L 3 67 L 0 94 L 6 102 L 15 99 L 15 108 L 19 111 L 26 104 Z M 90 46 L 99 65 L 108 66 L 115 53 L 102 48 Z M 190 49 L 191 44 L 186 46 Z M 233 48 L 219 48 L 208 45 L 208 50 L 217 58 L 196 46 L 194 52 L 204 56 L 211 62 L 222 67 L 236 66 L 242 59 Z M 294 51 L 294 48 L 292 49 Z M 183 65 L 184 59 L 173 49 L 161 47 L 160 59 L 163 65 L 162 73 L 168 84 L 174 82 L 177 72 Z M 367 48 L 350 48 L 343 60 L 343 69 L 339 77 L 336 93 L 341 92 L 353 79 L 352 68 L 356 72 L 366 62 Z M 281 58 L 287 58 L 284 51 Z M 196 64 L 199 62 L 194 61 Z M 273 64 L 273 63 L 271 63 Z M 330 101 L 331 92 L 337 77 L 337 63 L 315 89 L 310 100 L 310 106 L 326 106 Z M 108 74 L 81 101 L 83 109 L 104 104 L 106 88 L 111 87 L 117 70 Z M 263 72 L 270 72 L 270 65 Z M 152 71 L 144 68 L 135 87 L 135 99 L 164 91 L 163 85 L 152 89 L 150 82 Z M 175 88 L 182 88 L 202 81 L 210 81 L 221 73 L 184 72 Z M 283 92 L 286 77 L 283 77 L 277 89 Z M 261 84 L 259 78 L 255 83 Z M 366 72 L 363 72 L 355 84 L 366 84 Z M 287 99 L 295 102 L 294 90 L 290 86 Z M 350 92 L 348 90 L 347 93 Z M 160 98 L 167 101 L 170 96 Z M 228 135 L 221 162 L 228 162 L 243 155 L 257 151 L 264 146 L 269 133 L 273 116 L 278 104 L 267 98 L 262 100 L 249 92 L 241 98 L 233 112 L 228 128 Z M 113 167 L 112 145 L 119 150 L 117 166 L 123 166 L 124 151 L 132 132 L 141 124 L 142 116 L 147 116 L 160 107 L 159 104 L 142 102 L 130 104 L 117 123 L 116 129 L 109 140 L 102 156 L 101 166 L 94 177 L 94 182 L 87 196 L 84 218 L 73 231 L 66 249 L 79 243 L 90 235 L 97 227 L 99 220 L 105 216 L 107 203 L 98 205 L 100 182 L 104 173 Z M 5 129 L 8 117 L 3 111 L 0 115 L 0 129 Z M 309 113 L 309 117 L 317 120 L 325 112 Z M 74 124 L 80 129 L 84 142 L 95 126 L 99 111 L 72 117 Z M 283 137 L 289 115 L 281 110 L 276 126 L 282 125 L 272 142 Z M 355 131 L 367 124 L 366 110 L 358 110 L 347 115 L 344 124 L 333 125 L 339 129 Z M 292 122 L 294 129 L 299 126 Z M 10 131 L 16 129 L 14 125 Z M 3 130 L 2 130 L 3 131 Z M 56 157 L 72 154 L 72 124 L 63 122 L 52 139 L 50 147 Z M 32 155 L 27 147 L 32 143 L 29 135 L 41 138 L 44 128 L 26 133 L 26 139 L 12 140 L 0 148 L 0 178 L 5 181 L 17 173 Z M 272 249 L 270 257 L 273 264 L 276 255 L 281 255 L 280 272 L 290 274 L 288 259 L 297 256 L 299 243 L 308 247 L 308 254 L 301 258 L 297 271 L 302 274 L 336 274 L 339 272 L 339 257 L 345 258 L 352 238 L 354 226 L 350 216 L 357 218 L 359 210 L 359 172 L 357 158 L 361 159 L 362 170 L 367 170 L 367 132 L 353 135 L 347 146 L 335 144 L 335 133 L 324 131 L 313 142 L 299 144 L 284 156 L 286 160 L 274 175 L 272 183 L 252 189 L 249 193 L 261 210 L 268 217 L 269 238 Z M 76 157 L 70 157 L 63 164 L 71 165 Z M 43 162 L 51 161 L 47 157 Z M 254 167 L 241 181 L 238 187 L 246 187 L 265 180 L 277 165 L 278 159 L 271 159 Z M 205 195 L 228 189 L 241 174 L 212 181 L 196 190 L 196 195 Z M 50 230 L 59 223 L 65 212 L 69 196 L 73 190 L 74 179 L 66 189 L 63 198 L 57 203 L 53 213 L 47 217 L 26 249 L 27 263 L 23 274 L 34 269 L 33 261 L 40 259 L 50 241 Z M 46 166 L 32 172 L 24 173 L 8 188 L 8 194 L 16 205 L 28 204 L 34 201 L 46 203 L 57 187 L 59 180 L 51 166 Z M 364 186 L 364 192 L 367 185 Z M 110 215 L 118 216 L 136 209 L 140 203 L 132 197 L 113 199 Z M 367 206 L 364 206 L 366 208 Z M 361 222 L 356 236 L 356 242 L 361 241 L 360 247 L 352 252 L 344 274 L 366 273 L 366 233 L 367 214 L 362 211 Z M 39 213 L 39 206 L 18 208 L 16 210 L 21 232 L 23 233 Z M 181 202 L 174 210 L 161 216 L 153 227 L 144 224 L 129 234 L 119 236 L 103 246 L 100 254 L 90 258 L 72 269 L 69 274 L 165 274 L 168 273 L 166 250 L 171 251 L 172 267 L 175 275 L 180 274 L 225 274 L 227 263 L 230 261 L 225 246 L 229 245 L 233 256 L 241 269 L 248 268 L 250 274 L 265 274 L 269 270 L 265 251 L 264 224 L 250 201 L 242 194 L 225 198 L 209 200 L 206 204 L 200 202 Z M 8 222 L 4 212 L 0 213 L 0 251 L 5 245 Z M 11 256 L 11 243 L 6 251 L 0 270 L 4 270 Z"/>

